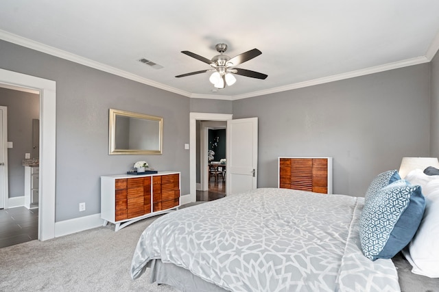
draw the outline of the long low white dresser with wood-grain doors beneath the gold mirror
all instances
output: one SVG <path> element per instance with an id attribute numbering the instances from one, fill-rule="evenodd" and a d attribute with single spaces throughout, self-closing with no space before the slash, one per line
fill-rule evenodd
<path id="1" fill-rule="evenodd" d="M 119 230 L 180 206 L 180 172 L 101 176 L 101 218 Z"/>

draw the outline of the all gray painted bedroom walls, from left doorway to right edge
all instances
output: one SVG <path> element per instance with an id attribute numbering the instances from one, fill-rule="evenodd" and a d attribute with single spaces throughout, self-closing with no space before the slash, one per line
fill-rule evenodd
<path id="1" fill-rule="evenodd" d="M 278 156 L 334 157 L 334 192 L 363 196 L 405 156 L 438 156 L 438 57 L 422 64 L 238 101 L 187 98 L 0 41 L 0 68 L 56 81 L 56 221 L 100 212 L 99 176 L 138 160 L 182 172 L 189 194 L 189 112 L 259 117 L 259 187 Z M 430 68 L 431 67 L 431 68 Z M 430 78 L 431 73 L 431 78 Z M 430 120 L 430 80 L 434 116 Z M 108 155 L 108 109 L 163 117 L 163 155 Z M 434 123 L 430 129 L 430 122 Z M 78 203 L 86 202 L 79 213 Z"/>

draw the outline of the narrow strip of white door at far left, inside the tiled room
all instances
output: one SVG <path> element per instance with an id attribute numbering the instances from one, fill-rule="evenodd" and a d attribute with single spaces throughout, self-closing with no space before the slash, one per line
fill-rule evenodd
<path id="1" fill-rule="evenodd" d="M 8 114 L 0 107 L 0 209 L 8 197 Z"/>

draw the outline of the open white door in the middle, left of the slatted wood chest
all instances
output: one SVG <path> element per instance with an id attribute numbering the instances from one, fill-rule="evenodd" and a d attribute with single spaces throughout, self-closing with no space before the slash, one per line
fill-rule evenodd
<path id="1" fill-rule="evenodd" d="M 258 118 L 227 121 L 227 195 L 257 188 Z"/>

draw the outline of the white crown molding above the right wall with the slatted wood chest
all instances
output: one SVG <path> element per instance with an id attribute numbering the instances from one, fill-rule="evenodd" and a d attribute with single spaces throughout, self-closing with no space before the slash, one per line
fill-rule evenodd
<path id="1" fill-rule="evenodd" d="M 423 64 L 423 63 L 427 63 L 427 62 L 429 62 L 429 59 L 427 59 L 427 57 L 416 57 L 416 58 L 412 58 L 412 59 L 406 59 L 406 60 L 401 61 L 401 62 L 394 62 L 394 63 L 384 64 L 384 65 L 370 67 L 370 68 L 366 68 L 366 69 L 355 70 L 355 71 L 346 72 L 346 73 L 342 73 L 342 74 L 332 75 L 329 77 L 322 77 L 322 78 L 298 82 L 298 83 L 294 83 L 294 84 L 290 84 L 290 85 L 279 86 L 277 88 L 271 88 L 268 90 L 260 90 L 257 92 L 250 92 L 248 94 L 239 94 L 239 95 L 233 96 L 233 101 L 236 101 L 238 99 L 243 99 L 243 98 L 254 97 L 254 96 L 273 94 L 273 93 L 277 93 L 277 92 L 284 92 L 287 90 L 294 90 L 294 89 L 298 89 L 298 88 L 305 88 L 305 87 L 309 87 L 309 86 L 313 86 L 313 85 L 319 85 L 319 84 L 329 83 L 329 82 L 333 82 L 333 81 L 340 81 L 343 79 L 350 79 L 353 77 L 369 75 L 369 74 L 373 74 L 373 73 L 378 73 L 378 72 L 383 72 L 383 71 L 387 71 L 387 70 L 393 70 L 393 69 L 397 69 L 397 68 L 403 68 L 403 67 L 407 67 L 407 66 Z"/>

